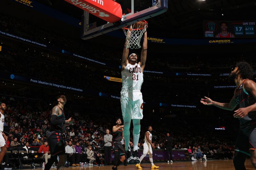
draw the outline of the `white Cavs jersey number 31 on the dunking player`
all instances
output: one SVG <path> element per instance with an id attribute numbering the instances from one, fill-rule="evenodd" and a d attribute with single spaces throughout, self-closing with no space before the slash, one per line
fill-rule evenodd
<path id="1" fill-rule="evenodd" d="M 143 83 L 143 73 L 139 64 L 128 63 L 121 72 L 123 86 L 122 90 L 140 90 Z"/>

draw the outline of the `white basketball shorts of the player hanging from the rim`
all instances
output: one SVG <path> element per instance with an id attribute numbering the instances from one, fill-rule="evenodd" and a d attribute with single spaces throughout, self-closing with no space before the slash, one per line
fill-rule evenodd
<path id="1" fill-rule="evenodd" d="M 123 119 L 143 118 L 143 99 L 140 90 L 122 90 L 120 101 Z"/>

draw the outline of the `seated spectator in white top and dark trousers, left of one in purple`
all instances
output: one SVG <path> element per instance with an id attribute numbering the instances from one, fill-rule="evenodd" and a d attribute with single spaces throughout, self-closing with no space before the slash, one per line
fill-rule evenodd
<path id="1" fill-rule="evenodd" d="M 67 157 L 71 158 L 72 166 L 80 166 L 80 154 L 76 153 L 76 149 L 75 146 L 72 144 L 72 141 L 68 141 L 68 145 L 65 147 L 65 152 L 67 154 Z"/>

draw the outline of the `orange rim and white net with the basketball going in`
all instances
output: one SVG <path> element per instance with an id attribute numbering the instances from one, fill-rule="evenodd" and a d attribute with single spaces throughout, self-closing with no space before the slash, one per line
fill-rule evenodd
<path id="1" fill-rule="evenodd" d="M 143 33 L 146 32 L 147 27 L 148 27 L 148 22 L 145 20 L 136 22 L 129 26 L 125 26 L 123 30 L 126 36 L 126 48 L 131 48 L 131 49 L 141 48 L 140 40 Z"/>

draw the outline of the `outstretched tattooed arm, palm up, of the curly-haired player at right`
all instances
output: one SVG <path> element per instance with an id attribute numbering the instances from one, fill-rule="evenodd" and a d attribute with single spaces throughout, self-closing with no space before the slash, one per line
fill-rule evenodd
<path id="1" fill-rule="evenodd" d="M 225 110 L 234 110 L 236 108 L 236 99 L 235 99 L 235 92 L 234 92 L 234 96 L 233 98 L 230 100 L 229 103 L 220 103 L 220 102 L 216 102 L 213 101 L 212 99 L 205 97 L 205 99 L 201 99 L 201 103 L 203 103 L 204 105 L 213 105 Z"/>

